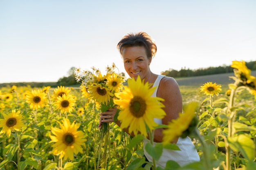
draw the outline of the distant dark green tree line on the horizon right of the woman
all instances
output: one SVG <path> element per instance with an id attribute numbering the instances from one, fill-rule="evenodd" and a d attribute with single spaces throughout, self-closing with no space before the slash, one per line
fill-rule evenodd
<path id="1" fill-rule="evenodd" d="M 256 61 L 245 62 L 247 68 L 250 70 L 256 70 Z M 231 66 L 218 66 L 218 67 L 209 67 L 209 68 L 199 68 L 197 70 L 190 70 L 186 68 L 182 68 L 180 71 L 177 70 L 166 70 L 161 72 L 162 75 L 169 76 L 169 77 L 192 77 L 192 76 L 204 76 L 204 75 L 211 75 L 211 74 L 222 74 L 222 73 L 230 73 L 233 72 L 234 68 Z"/>

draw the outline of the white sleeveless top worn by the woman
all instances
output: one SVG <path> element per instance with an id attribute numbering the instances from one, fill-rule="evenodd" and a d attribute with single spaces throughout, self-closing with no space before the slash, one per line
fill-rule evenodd
<path id="1" fill-rule="evenodd" d="M 155 80 L 155 83 L 153 85 L 153 87 L 156 86 L 155 92 L 152 95 L 153 97 L 156 97 L 159 83 L 163 77 L 164 77 L 163 75 L 157 76 L 157 79 Z M 162 119 L 154 118 L 154 120 L 157 124 L 162 124 Z M 144 154 L 148 159 L 148 161 L 152 162 L 153 161 L 152 157 L 146 152 L 146 149 L 145 149 L 146 144 L 150 141 L 148 139 L 144 139 L 143 141 L 144 141 Z M 156 142 L 154 142 L 154 144 L 156 144 Z M 176 145 L 180 148 L 180 150 L 163 149 L 162 156 L 158 161 L 155 161 L 156 166 L 165 168 L 166 162 L 168 160 L 176 161 L 180 166 L 184 166 L 191 162 L 200 161 L 198 152 L 195 149 L 195 146 L 189 137 L 185 137 L 185 138 L 179 137 Z"/>

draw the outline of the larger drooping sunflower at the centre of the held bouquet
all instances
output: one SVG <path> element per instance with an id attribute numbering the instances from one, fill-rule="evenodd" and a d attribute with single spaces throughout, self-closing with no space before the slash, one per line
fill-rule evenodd
<path id="1" fill-rule="evenodd" d="M 110 101 L 110 96 L 114 96 L 108 87 L 97 83 L 89 85 L 88 91 L 93 100 L 103 104 L 107 104 Z"/>

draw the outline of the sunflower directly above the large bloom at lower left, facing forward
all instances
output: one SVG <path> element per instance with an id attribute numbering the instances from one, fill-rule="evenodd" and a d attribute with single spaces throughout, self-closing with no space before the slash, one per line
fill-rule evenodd
<path id="1" fill-rule="evenodd" d="M 63 96 L 58 96 L 55 101 L 55 107 L 60 109 L 62 113 L 70 113 L 74 109 L 76 98 L 73 95 L 63 94 Z"/>

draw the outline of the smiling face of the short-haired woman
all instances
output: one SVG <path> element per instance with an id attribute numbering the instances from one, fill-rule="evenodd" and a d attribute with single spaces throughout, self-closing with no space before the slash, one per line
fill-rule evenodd
<path id="1" fill-rule="evenodd" d="M 139 75 L 141 79 L 144 79 L 150 74 L 149 64 L 151 63 L 151 59 L 148 59 L 143 46 L 124 48 L 122 57 L 124 60 L 124 68 L 130 78 L 134 77 L 136 80 Z"/>

